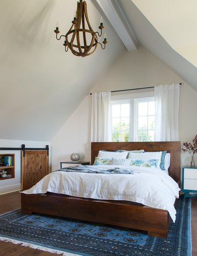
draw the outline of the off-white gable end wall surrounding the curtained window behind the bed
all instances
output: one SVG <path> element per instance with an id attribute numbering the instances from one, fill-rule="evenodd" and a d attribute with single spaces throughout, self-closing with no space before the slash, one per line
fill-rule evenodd
<path id="1" fill-rule="evenodd" d="M 92 92 L 114 91 L 139 88 L 159 84 L 184 82 L 149 51 L 140 47 L 138 51 L 125 51 L 111 66 L 106 75 L 101 76 Z M 180 141 L 191 141 L 197 134 L 197 92 L 189 85 L 181 85 L 180 92 Z M 81 158 L 90 160 L 90 119 L 91 96 L 79 105 L 69 120 L 51 141 L 53 150 L 52 169 L 59 168 L 59 162 L 69 160 L 72 152 L 81 154 Z M 190 155 L 181 154 L 181 164 L 189 164 Z M 196 159 L 197 164 L 197 159 Z"/>

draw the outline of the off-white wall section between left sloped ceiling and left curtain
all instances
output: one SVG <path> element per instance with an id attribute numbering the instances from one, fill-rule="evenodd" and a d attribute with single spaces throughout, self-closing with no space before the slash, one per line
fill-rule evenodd
<path id="1" fill-rule="evenodd" d="M 70 161 L 71 153 L 79 153 L 80 160 L 90 160 L 90 100 L 88 95 L 51 141 L 53 170 L 60 168 L 59 162 Z"/>

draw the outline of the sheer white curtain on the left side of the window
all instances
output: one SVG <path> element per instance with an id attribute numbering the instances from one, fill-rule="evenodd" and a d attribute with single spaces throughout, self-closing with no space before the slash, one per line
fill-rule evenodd
<path id="1" fill-rule="evenodd" d="M 111 92 L 92 93 L 91 142 L 111 141 Z"/>

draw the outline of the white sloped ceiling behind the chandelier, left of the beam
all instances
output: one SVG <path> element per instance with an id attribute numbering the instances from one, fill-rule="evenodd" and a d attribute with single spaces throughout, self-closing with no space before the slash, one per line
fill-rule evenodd
<path id="1" fill-rule="evenodd" d="M 97 31 L 103 13 L 86 2 Z M 74 0 L 0 1 L 0 139 L 50 141 L 125 50 L 103 16 L 109 42 L 105 51 L 98 46 L 85 58 L 65 53 L 54 29 L 59 22 L 65 34 L 76 7 Z"/>

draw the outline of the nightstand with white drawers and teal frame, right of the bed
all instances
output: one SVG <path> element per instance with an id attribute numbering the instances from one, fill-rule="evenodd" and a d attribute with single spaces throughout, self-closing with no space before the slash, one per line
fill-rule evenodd
<path id="1" fill-rule="evenodd" d="M 191 192 L 197 193 L 197 166 L 183 166 L 182 170 L 182 191 L 185 192 L 184 198 L 197 196 L 197 194 L 189 195 Z"/>

